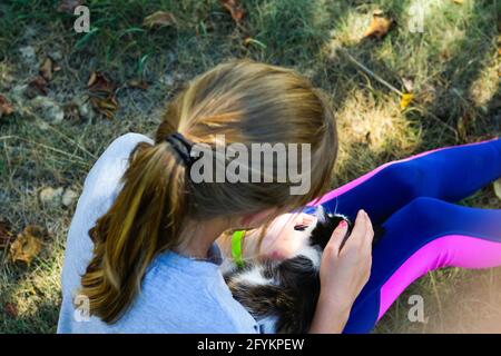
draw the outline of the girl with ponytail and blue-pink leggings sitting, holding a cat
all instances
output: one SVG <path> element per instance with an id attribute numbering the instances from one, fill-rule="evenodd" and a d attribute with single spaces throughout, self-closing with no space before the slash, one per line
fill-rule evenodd
<path id="1" fill-rule="evenodd" d="M 214 146 L 219 134 L 228 144 L 311 144 L 312 189 L 292 196 L 291 181 L 194 184 L 189 147 Z M 232 61 L 200 76 L 169 105 L 155 144 L 128 134 L 87 177 L 68 236 L 59 332 L 258 332 L 224 285 L 214 241 L 277 217 L 247 234 L 244 257 L 292 257 L 302 245 L 294 226 L 314 218 L 282 212 L 323 190 L 336 147 L 324 96 L 293 71 Z M 451 204 L 499 177 L 495 139 L 384 165 L 311 204 L 356 216 L 343 247 L 346 226 L 324 250 L 311 332 L 370 332 L 429 270 L 501 266 L 501 211 Z M 373 253 L 362 209 L 385 229 Z M 218 243 L 229 255 L 228 239 Z"/>

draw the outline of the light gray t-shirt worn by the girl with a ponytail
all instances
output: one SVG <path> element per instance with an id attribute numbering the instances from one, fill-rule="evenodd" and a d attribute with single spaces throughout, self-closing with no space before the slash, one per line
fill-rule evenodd
<path id="1" fill-rule="evenodd" d="M 68 233 L 62 268 L 62 305 L 58 333 L 257 333 L 254 318 L 237 303 L 219 270 L 220 251 L 214 244 L 209 260 L 167 251 L 149 266 L 140 294 L 115 324 L 88 317 L 78 295 L 80 276 L 92 256 L 88 230 L 117 197 L 131 150 L 146 136 L 117 138 L 86 178 Z M 75 307 L 75 303 L 78 307 Z"/>

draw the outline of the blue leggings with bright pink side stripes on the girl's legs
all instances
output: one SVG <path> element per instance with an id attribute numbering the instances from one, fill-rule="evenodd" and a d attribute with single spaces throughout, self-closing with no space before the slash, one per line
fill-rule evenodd
<path id="1" fill-rule="evenodd" d="M 501 210 L 459 201 L 501 177 L 501 139 L 383 165 L 311 204 L 354 219 L 364 209 L 385 233 L 344 333 L 369 333 L 414 280 L 441 267 L 501 266 Z"/>

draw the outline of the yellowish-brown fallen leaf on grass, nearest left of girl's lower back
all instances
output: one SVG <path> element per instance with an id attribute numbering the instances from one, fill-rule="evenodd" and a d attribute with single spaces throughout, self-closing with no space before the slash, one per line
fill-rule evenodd
<path id="1" fill-rule="evenodd" d="M 22 233 L 18 234 L 16 240 L 10 245 L 12 261 L 31 264 L 32 259 L 41 251 L 40 238 L 42 235 L 42 229 L 36 225 L 27 226 Z"/>

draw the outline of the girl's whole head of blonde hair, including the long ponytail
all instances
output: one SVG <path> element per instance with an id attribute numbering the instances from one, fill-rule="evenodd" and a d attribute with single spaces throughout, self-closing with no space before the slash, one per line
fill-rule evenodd
<path id="1" fill-rule="evenodd" d="M 200 182 L 165 138 L 180 132 L 196 144 L 311 144 L 311 189 L 293 196 L 291 182 Z M 146 268 L 181 244 L 187 218 L 243 216 L 267 208 L 295 209 L 330 182 L 337 152 L 335 120 L 325 95 L 292 69 L 230 60 L 191 80 L 167 106 L 155 145 L 139 144 L 122 189 L 89 230 L 94 257 L 80 293 L 91 315 L 120 318 L 139 291 Z"/>

